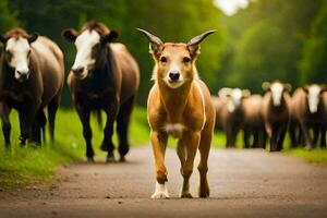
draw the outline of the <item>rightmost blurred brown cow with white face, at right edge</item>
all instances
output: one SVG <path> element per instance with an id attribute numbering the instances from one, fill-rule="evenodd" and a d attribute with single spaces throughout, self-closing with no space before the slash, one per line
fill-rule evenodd
<path id="1" fill-rule="evenodd" d="M 316 146 L 319 135 L 320 146 L 326 147 L 327 116 L 324 102 L 324 93 L 326 90 L 327 87 L 324 85 L 311 84 L 296 88 L 292 97 L 293 117 L 301 126 L 307 149 Z M 313 130 L 313 137 L 310 134 L 310 130 Z M 292 140 L 295 138 L 293 134 L 291 132 Z"/>

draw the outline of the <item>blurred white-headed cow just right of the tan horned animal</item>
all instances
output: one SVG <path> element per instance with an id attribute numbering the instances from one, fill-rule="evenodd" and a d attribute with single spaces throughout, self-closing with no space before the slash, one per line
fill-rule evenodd
<path id="1" fill-rule="evenodd" d="M 243 99 L 250 95 L 247 89 L 221 88 L 219 90 L 219 97 L 225 104 L 217 116 L 226 134 L 226 147 L 235 147 L 237 136 L 244 120 Z"/>

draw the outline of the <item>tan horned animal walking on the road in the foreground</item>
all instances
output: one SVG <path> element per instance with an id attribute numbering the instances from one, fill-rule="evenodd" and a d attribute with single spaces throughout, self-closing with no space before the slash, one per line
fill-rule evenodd
<path id="1" fill-rule="evenodd" d="M 209 196 L 207 182 L 208 155 L 215 128 L 215 108 L 210 93 L 198 78 L 195 68 L 199 43 L 211 32 L 194 37 L 189 44 L 162 43 L 158 37 L 141 31 L 150 43 L 155 59 L 155 85 L 148 95 L 148 122 L 156 166 L 156 191 L 153 198 L 168 198 L 165 150 L 169 135 L 179 138 L 178 156 L 184 178 L 181 197 L 192 197 L 190 177 L 196 150 L 199 150 L 199 197 Z"/>

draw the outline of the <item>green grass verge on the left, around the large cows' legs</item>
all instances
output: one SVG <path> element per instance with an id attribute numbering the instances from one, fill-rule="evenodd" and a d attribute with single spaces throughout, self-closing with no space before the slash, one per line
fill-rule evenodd
<path id="1" fill-rule="evenodd" d="M 105 114 L 104 116 L 104 121 Z M 82 135 L 82 124 L 76 112 L 72 109 L 60 109 L 56 120 L 56 143 L 47 143 L 41 147 L 19 146 L 19 119 L 12 111 L 12 146 L 4 148 L 3 134 L 0 133 L 0 189 L 24 186 L 51 178 L 57 167 L 72 161 L 83 160 L 85 157 L 85 143 Z M 93 146 L 96 156 L 105 157 L 106 153 L 99 150 L 104 138 L 95 119 L 92 119 Z M 48 131 L 47 131 L 48 132 Z M 130 126 L 132 146 L 148 144 L 149 128 L 146 121 L 146 110 L 135 108 Z M 47 135 L 49 141 L 49 135 Z M 117 135 L 113 135 L 117 145 Z"/>

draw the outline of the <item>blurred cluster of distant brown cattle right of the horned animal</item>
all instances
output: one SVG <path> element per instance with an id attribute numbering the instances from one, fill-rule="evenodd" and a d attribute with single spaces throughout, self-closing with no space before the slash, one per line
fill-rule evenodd
<path id="1" fill-rule="evenodd" d="M 244 147 L 282 149 L 286 133 L 291 146 L 315 148 L 317 142 L 326 147 L 327 86 L 310 84 L 290 94 L 291 85 L 280 81 L 265 82 L 264 96 L 247 89 L 221 88 L 211 99 L 216 107 L 216 129 L 226 133 L 226 147 L 234 147 L 243 130 Z M 252 143 L 250 142 L 251 137 Z"/>

